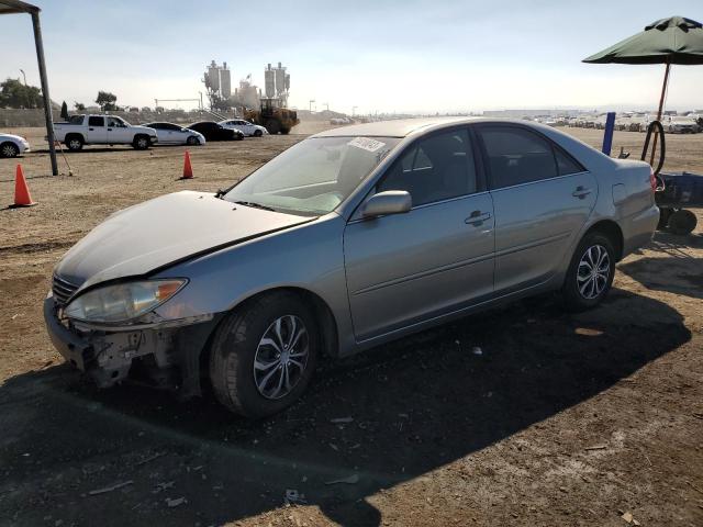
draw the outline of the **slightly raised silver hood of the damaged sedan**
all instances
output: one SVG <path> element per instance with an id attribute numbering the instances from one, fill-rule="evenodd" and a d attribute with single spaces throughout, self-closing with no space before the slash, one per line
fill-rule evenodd
<path id="1" fill-rule="evenodd" d="M 211 193 L 177 192 L 112 214 L 64 255 L 55 272 L 82 289 L 308 221 Z"/>

